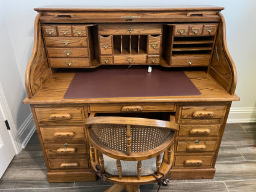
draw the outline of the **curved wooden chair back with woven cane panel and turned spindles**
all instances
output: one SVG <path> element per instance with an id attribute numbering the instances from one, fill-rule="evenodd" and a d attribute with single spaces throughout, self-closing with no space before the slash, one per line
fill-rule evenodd
<path id="1" fill-rule="evenodd" d="M 174 117 L 171 116 L 170 119 L 173 120 Z M 178 130 L 178 125 L 173 121 L 94 117 L 92 114 L 90 118 L 87 118 L 86 126 L 90 141 L 92 166 L 100 164 L 102 171 L 105 170 L 103 154 L 116 159 L 119 180 L 122 178 L 120 160 L 138 161 L 138 180 L 141 178 L 143 160 L 156 157 L 156 175 L 159 175 L 160 172 L 161 153 L 166 151 L 166 164 L 169 167 L 172 164 L 171 154 L 173 150 L 171 144 L 174 141 L 175 132 Z"/>

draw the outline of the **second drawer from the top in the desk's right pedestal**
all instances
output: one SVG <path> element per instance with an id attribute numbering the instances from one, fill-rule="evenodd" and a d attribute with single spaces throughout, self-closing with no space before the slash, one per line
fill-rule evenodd
<path id="1" fill-rule="evenodd" d="M 212 137 L 218 136 L 220 125 L 180 125 L 179 136 Z"/>

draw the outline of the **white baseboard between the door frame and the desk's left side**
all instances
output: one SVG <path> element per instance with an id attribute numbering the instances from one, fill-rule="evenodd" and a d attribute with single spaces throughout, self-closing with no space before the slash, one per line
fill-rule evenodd
<path id="1" fill-rule="evenodd" d="M 20 143 L 22 143 L 22 148 L 25 148 L 34 133 L 34 130 L 36 130 L 36 126 L 34 125 L 33 115 L 30 113 L 22 126 L 18 129 L 18 137 L 20 138 Z"/>

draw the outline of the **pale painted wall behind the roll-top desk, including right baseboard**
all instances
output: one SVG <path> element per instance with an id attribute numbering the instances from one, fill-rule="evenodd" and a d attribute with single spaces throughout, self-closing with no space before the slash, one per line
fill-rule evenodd
<path id="1" fill-rule="evenodd" d="M 25 97 L 25 70 L 33 49 L 33 25 L 36 12 L 34 7 L 41 6 L 172 6 L 172 5 L 207 5 L 223 6 L 226 19 L 226 37 L 230 54 L 238 71 L 236 94 L 240 102 L 234 102 L 230 113 L 230 122 L 256 121 L 256 65 L 254 43 L 256 31 L 256 1 L 223 0 L 183 0 L 183 1 L 14 1 L 1 2 L 1 44 L 5 54 L 1 57 L 0 81 L 9 98 L 10 108 L 14 113 L 17 127 L 28 114 L 28 106 L 22 105 Z M 9 35 L 7 35 L 9 34 Z M 1 45 L 1 47 L 2 47 Z M 5 72 L 2 72 L 2 69 Z M 3 76 L 2 76 L 3 75 Z M 14 86 L 15 85 L 15 86 Z M 10 88 L 13 87 L 13 88 Z M 23 112 L 24 111 L 24 112 Z M 27 119 L 28 121 L 29 119 Z"/>

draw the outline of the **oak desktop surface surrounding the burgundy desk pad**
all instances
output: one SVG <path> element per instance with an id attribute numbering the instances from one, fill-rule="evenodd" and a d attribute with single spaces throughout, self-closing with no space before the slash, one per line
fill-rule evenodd
<path id="1" fill-rule="evenodd" d="M 86 98 L 64 99 L 75 73 L 54 73 L 44 88 L 33 98 L 25 98 L 29 104 L 61 103 L 122 103 L 122 102 L 227 102 L 238 101 L 237 95 L 228 94 L 214 79 L 204 71 L 185 71 L 201 95 L 167 96 L 167 97 L 122 97 L 122 98 Z"/>

